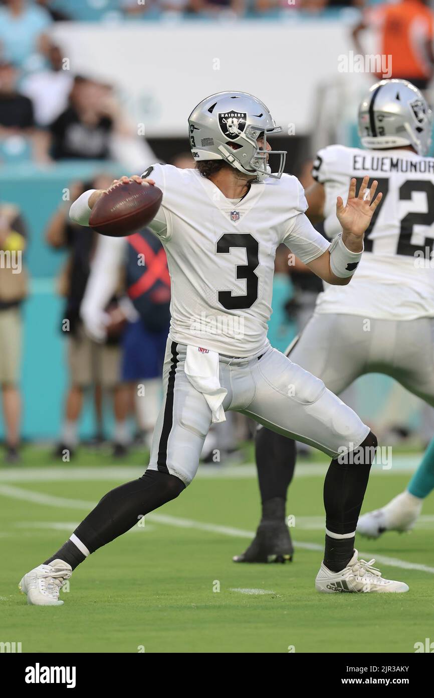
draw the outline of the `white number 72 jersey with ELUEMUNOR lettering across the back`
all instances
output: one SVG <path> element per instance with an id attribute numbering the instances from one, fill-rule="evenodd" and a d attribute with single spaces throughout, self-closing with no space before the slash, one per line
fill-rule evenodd
<path id="1" fill-rule="evenodd" d="M 364 253 L 348 286 L 325 284 L 317 313 L 382 320 L 434 316 L 434 159 L 409 150 L 332 145 L 318 151 L 313 177 L 325 188 L 325 232 L 335 237 L 336 196 L 348 198 L 365 175 L 378 180 L 382 201 L 364 236 Z"/>

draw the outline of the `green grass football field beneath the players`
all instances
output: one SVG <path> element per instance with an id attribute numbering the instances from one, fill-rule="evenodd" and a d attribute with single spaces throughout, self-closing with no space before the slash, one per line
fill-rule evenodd
<path id="1" fill-rule="evenodd" d="M 323 466 L 302 462 L 288 500 L 293 563 L 231 561 L 257 523 L 254 468 L 201 466 L 177 500 L 76 570 L 63 607 L 29 607 L 17 590 L 22 574 L 56 551 L 100 496 L 140 475 L 142 459 L 115 466 L 84 451 L 53 466 L 47 452 L 28 448 L 22 466 L 0 469 L 0 641 L 20 641 L 23 653 L 412 653 L 415 642 L 434 639 L 434 498 L 412 533 L 358 541 L 409 593 L 321 595 Z M 364 510 L 408 477 L 399 464 L 373 473 Z"/>

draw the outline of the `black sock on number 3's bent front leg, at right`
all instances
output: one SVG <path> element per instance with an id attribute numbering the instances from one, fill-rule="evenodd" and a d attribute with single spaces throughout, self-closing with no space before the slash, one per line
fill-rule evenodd
<path id="1" fill-rule="evenodd" d="M 339 572 L 350 562 L 355 530 L 375 457 L 377 438 L 369 432 L 365 440 L 345 456 L 330 463 L 324 482 L 324 564 Z"/>

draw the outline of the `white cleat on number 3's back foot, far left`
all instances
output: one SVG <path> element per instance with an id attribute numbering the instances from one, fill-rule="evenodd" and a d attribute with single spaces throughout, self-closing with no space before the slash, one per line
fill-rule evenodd
<path id="1" fill-rule="evenodd" d="M 24 574 L 18 584 L 22 594 L 27 595 L 27 603 L 33 606 L 61 606 L 59 591 L 72 574 L 72 567 L 63 560 L 53 560 L 49 565 L 39 565 Z"/>

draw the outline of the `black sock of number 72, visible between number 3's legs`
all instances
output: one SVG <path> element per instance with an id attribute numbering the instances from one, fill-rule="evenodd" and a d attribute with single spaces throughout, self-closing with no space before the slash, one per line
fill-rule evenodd
<path id="1" fill-rule="evenodd" d="M 256 431 L 255 447 L 262 518 L 284 521 L 286 492 L 295 468 L 295 442 L 262 427 Z"/>

